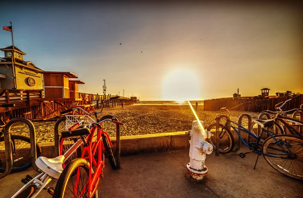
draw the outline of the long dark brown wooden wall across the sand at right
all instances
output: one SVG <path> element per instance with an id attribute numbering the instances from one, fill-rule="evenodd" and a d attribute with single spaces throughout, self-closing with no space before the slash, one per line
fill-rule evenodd
<path id="1" fill-rule="evenodd" d="M 226 107 L 228 109 L 235 107 L 241 103 L 251 102 L 250 105 L 241 105 L 238 108 L 234 109 L 237 111 L 249 111 L 249 112 L 261 112 L 264 110 L 276 111 L 275 105 L 288 100 L 293 96 L 269 96 L 269 97 L 226 97 L 226 98 L 217 98 L 212 100 L 204 101 L 204 110 L 205 111 L 219 111 L 222 107 Z M 256 105 L 256 100 L 263 100 L 263 104 L 261 106 Z M 290 110 L 294 108 L 299 108 L 300 105 L 303 104 L 303 94 L 300 94 L 298 97 L 293 100 L 287 102 L 283 107 L 283 110 Z"/>

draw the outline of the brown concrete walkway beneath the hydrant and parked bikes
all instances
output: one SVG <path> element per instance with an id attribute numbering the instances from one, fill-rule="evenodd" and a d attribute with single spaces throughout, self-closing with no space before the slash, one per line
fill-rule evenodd
<path id="1" fill-rule="evenodd" d="M 246 150 L 241 149 L 241 152 Z M 121 169 L 112 170 L 108 161 L 105 179 L 98 196 L 106 197 L 302 197 L 303 182 L 274 170 L 261 156 L 244 159 L 238 153 L 207 156 L 209 173 L 201 182 L 189 177 L 186 164 L 188 150 L 121 157 Z M 0 180 L 0 197 L 10 197 L 33 169 L 10 174 Z M 56 180 L 52 181 L 55 186 Z M 39 197 L 51 197 L 46 190 Z"/>

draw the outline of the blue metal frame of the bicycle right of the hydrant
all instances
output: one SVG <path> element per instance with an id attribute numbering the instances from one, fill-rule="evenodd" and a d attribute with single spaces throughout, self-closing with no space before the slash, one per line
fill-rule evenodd
<path id="1" fill-rule="evenodd" d="M 233 123 L 233 124 L 235 124 L 235 125 L 237 125 L 237 127 L 234 127 L 234 126 L 232 126 L 231 124 L 229 124 L 228 122 L 226 122 L 225 125 L 222 127 L 222 131 L 223 131 L 223 129 L 224 129 L 225 127 L 227 128 L 227 125 L 230 125 L 231 128 L 233 128 L 233 130 L 237 133 L 237 135 L 239 136 L 239 138 L 241 139 L 241 141 L 242 141 L 249 149 L 254 149 L 258 154 L 263 155 L 263 156 L 269 156 L 269 157 L 279 158 L 279 157 L 277 157 L 277 156 L 272 156 L 272 155 L 264 154 L 262 151 L 260 151 L 260 150 L 257 149 L 257 146 L 259 145 L 259 142 L 261 141 L 261 137 L 262 137 L 262 135 L 263 135 L 264 132 L 266 132 L 268 135 L 270 135 L 272 138 L 274 138 L 274 139 L 276 140 L 276 142 L 281 146 L 282 150 L 283 150 L 286 154 L 288 154 L 288 153 L 284 150 L 284 147 L 281 145 L 281 143 L 275 138 L 275 135 L 276 135 L 275 133 L 272 133 L 272 132 L 266 130 L 265 128 L 262 128 L 261 133 L 259 134 L 259 137 L 258 137 L 258 136 L 256 136 L 254 133 L 252 133 L 251 131 L 249 131 L 249 130 L 247 130 L 246 128 L 244 128 L 243 126 L 239 125 L 238 123 L 236 123 L 236 122 L 234 122 L 234 121 L 230 121 L 230 122 Z M 248 145 L 248 144 L 243 140 L 241 134 L 238 132 L 237 129 L 238 129 L 238 130 L 244 131 L 245 133 L 247 133 L 248 135 L 251 135 L 252 137 L 254 137 L 254 138 L 257 140 L 257 142 L 254 144 L 254 147 Z M 221 132 L 222 132 L 222 131 L 221 131 Z M 284 142 L 282 142 L 282 143 L 283 143 L 283 145 L 284 145 L 286 148 L 288 148 L 288 146 L 287 146 Z"/>

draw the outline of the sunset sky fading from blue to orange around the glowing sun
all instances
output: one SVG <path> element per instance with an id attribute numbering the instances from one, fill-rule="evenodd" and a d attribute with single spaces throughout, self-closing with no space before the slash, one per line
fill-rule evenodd
<path id="1" fill-rule="evenodd" d="M 107 93 L 141 101 L 303 93 L 298 5 L 1 2 L 24 60 L 75 73 L 81 92 L 102 93 L 106 79 Z M 0 30 L 0 48 L 11 44 Z"/>

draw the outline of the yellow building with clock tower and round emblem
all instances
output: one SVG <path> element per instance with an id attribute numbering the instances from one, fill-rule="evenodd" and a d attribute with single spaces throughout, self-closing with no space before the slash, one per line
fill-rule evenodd
<path id="1" fill-rule="evenodd" d="M 24 61 L 24 52 L 16 46 L 8 46 L 0 49 L 5 57 L 0 58 L 0 88 L 1 89 L 43 89 L 43 71 L 31 61 Z"/>

